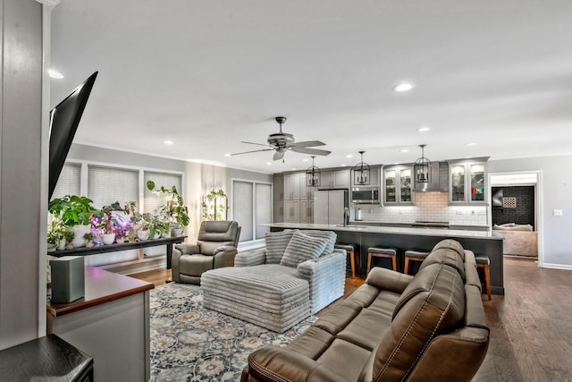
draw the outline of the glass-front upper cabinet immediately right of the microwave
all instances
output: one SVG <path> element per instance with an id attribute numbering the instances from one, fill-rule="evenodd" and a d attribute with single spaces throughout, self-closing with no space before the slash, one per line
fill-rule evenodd
<path id="1" fill-rule="evenodd" d="M 383 167 L 383 205 L 413 204 L 413 166 Z"/>

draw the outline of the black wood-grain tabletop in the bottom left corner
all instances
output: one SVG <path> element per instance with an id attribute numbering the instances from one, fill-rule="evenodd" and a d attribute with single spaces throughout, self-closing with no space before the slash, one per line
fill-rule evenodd
<path id="1" fill-rule="evenodd" d="M 93 381 L 93 360 L 57 335 L 0 351 L 2 381 Z"/>

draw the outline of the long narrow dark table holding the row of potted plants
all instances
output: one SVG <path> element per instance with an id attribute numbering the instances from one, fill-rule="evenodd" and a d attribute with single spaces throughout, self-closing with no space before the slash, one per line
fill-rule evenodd
<path id="1" fill-rule="evenodd" d="M 187 236 L 166 237 L 162 239 L 149 239 L 139 242 L 122 242 L 121 244 L 99 245 L 97 247 L 81 247 L 72 250 L 54 250 L 47 252 L 50 256 L 61 258 L 63 256 L 88 256 L 98 253 L 117 252 L 119 250 L 139 250 L 140 248 L 167 246 L 167 269 L 171 269 L 172 245 L 183 242 Z"/>

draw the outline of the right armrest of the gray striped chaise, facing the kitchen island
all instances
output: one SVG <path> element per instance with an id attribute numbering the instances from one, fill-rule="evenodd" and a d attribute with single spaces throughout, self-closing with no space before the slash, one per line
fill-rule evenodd
<path id="1" fill-rule="evenodd" d="M 343 296 L 346 286 L 345 250 L 306 260 L 298 265 L 297 276 L 310 284 L 310 313 L 315 314 Z"/>

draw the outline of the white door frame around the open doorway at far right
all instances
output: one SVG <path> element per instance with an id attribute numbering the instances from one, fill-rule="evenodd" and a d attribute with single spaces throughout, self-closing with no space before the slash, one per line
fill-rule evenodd
<path id="1" fill-rule="evenodd" d="M 511 172 L 504 172 L 504 173 L 489 173 L 488 179 L 488 188 L 489 188 L 489 195 L 492 195 L 492 177 L 497 175 L 518 175 L 518 174 L 534 174 L 536 177 L 536 183 L 509 183 L 509 184 L 500 184 L 497 183 L 494 187 L 501 187 L 501 186 L 527 186 L 527 185 L 534 185 L 534 218 L 536 220 L 536 232 L 538 235 L 538 267 L 544 267 L 544 223 L 543 223 L 543 170 L 534 170 L 534 171 L 511 171 Z M 488 220 L 491 222 L 492 225 L 492 206 L 487 208 L 487 217 Z"/>

